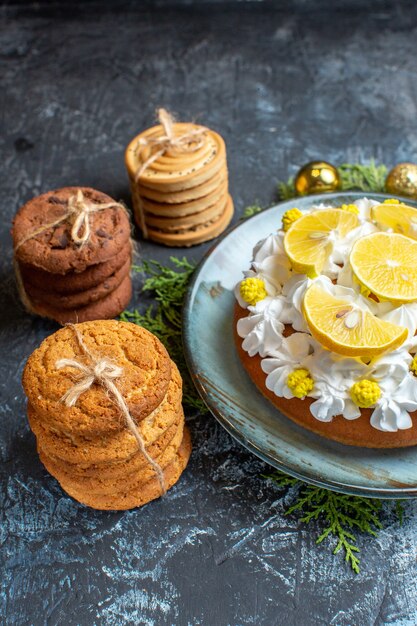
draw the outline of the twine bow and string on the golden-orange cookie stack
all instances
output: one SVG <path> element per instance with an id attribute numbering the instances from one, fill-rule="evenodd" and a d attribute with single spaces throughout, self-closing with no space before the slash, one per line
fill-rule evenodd
<path id="1" fill-rule="evenodd" d="M 164 473 L 162 471 L 161 466 L 148 454 L 142 436 L 139 432 L 139 429 L 130 415 L 128 406 L 126 404 L 125 399 L 120 393 L 118 387 L 115 385 L 114 381 L 117 378 L 120 378 L 123 374 L 123 368 L 112 363 L 106 358 L 96 358 L 90 350 L 85 345 L 81 334 L 78 332 L 77 328 L 74 324 L 68 324 L 74 331 L 75 337 L 77 339 L 78 345 L 81 348 L 81 351 L 84 353 L 86 357 L 88 357 L 89 363 L 84 364 L 76 361 L 75 359 L 58 359 L 55 363 L 56 369 L 60 370 L 64 367 L 73 367 L 81 372 L 82 376 L 78 382 L 76 382 L 68 391 L 62 396 L 61 400 L 67 406 L 71 407 L 77 403 L 79 397 L 86 392 L 90 387 L 97 383 L 102 385 L 107 391 L 112 394 L 116 405 L 119 407 L 120 411 L 123 414 L 123 417 L 126 420 L 126 426 L 132 435 L 135 437 L 138 442 L 139 450 L 154 469 L 162 494 L 166 493 L 165 486 L 165 478 Z"/>

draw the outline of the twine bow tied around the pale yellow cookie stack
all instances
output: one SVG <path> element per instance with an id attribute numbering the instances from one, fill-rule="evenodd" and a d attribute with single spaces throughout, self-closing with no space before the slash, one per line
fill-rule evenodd
<path id="1" fill-rule="evenodd" d="M 201 126 L 200 128 L 194 128 L 187 130 L 182 135 L 174 134 L 175 120 L 171 113 L 166 109 L 158 109 L 158 121 L 163 128 L 163 134 L 158 137 L 140 137 L 136 146 L 135 153 L 139 157 L 143 148 L 149 147 L 151 149 L 150 156 L 142 163 L 135 174 L 135 182 L 139 181 L 139 178 L 148 169 L 152 163 L 157 161 L 159 157 L 163 156 L 165 152 L 175 148 L 176 150 L 184 153 L 197 152 L 204 145 L 205 135 L 207 128 Z M 140 227 L 145 239 L 148 237 L 148 229 L 145 221 L 145 212 L 141 200 L 140 193 L 138 194 L 139 200 L 139 221 Z"/>

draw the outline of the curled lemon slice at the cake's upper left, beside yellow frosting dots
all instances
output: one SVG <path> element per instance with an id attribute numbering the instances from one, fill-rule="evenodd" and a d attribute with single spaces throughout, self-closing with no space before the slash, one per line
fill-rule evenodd
<path id="1" fill-rule="evenodd" d="M 333 244 L 359 225 L 357 216 L 341 209 L 306 213 L 285 234 L 284 248 L 295 272 L 318 276 Z"/>

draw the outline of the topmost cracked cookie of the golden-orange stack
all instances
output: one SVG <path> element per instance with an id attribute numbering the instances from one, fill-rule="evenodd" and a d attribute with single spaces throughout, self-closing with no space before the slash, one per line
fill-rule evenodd
<path id="1" fill-rule="evenodd" d="M 75 329 L 96 359 L 106 358 L 123 368 L 117 388 L 133 419 L 144 419 L 161 404 L 171 380 L 171 359 L 155 335 L 136 324 L 116 320 L 84 322 L 76 324 Z M 70 365 L 58 369 L 60 359 L 90 362 L 71 326 L 44 339 L 23 371 L 23 388 L 42 421 L 90 438 L 124 430 L 120 408 L 102 385 L 92 384 L 74 406 L 62 401 L 80 372 Z"/>

